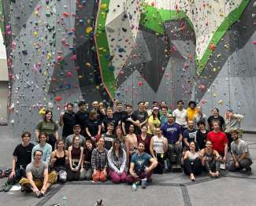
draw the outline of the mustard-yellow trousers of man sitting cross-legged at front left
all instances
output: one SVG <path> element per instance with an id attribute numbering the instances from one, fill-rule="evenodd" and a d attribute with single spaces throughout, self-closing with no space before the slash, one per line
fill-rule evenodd
<path id="1" fill-rule="evenodd" d="M 50 185 L 53 185 L 54 183 L 57 182 L 57 179 L 58 179 L 58 173 L 55 171 L 50 172 L 50 174 L 48 175 L 48 183 L 50 183 Z M 43 188 L 43 179 L 33 179 L 33 181 L 35 182 L 35 186 L 39 190 Z M 32 192 L 28 178 L 21 178 L 19 183 L 20 183 L 20 186 L 24 187 L 26 191 Z"/>

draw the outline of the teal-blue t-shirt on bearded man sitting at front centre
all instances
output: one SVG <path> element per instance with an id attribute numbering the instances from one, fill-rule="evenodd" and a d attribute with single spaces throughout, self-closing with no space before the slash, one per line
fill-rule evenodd
<path id="1" fill-rule="evenodd" d="M 151 158 L 152 157 L 148 153 L 143 153 L 141 156 L 139 156 L 138 153 L 133 154 L 131 163 L 135 164 L 135 173 L 139 174 L 140 172 L 143 172 L 145 167 L 150 165 Z"/>

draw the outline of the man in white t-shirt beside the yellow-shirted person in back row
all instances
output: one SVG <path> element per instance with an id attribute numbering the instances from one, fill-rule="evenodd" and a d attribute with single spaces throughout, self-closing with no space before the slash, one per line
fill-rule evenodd
<path id="1" fill-rule="evenodd" d="M 175 122 L 180 125 L 181 130 L 184 131 L 187 128 L 187 110 L 184 109 L 184 101 L 177 101 L 177 109 L 174 109 L 173 116 L 175 117 Z"/>

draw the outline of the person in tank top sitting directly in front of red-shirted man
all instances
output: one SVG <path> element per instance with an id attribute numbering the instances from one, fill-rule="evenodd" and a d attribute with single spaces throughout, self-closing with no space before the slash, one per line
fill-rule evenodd
<path id="1" fill-rule="evenodd" d="M 209 140 L 206 141 L 206 148 L 201 149 L 200 158 L 202 160 L 202 167 L 211 177 L 218 177 L 220 175 L 219 153 L 213 149 L 213 144 Z"/>

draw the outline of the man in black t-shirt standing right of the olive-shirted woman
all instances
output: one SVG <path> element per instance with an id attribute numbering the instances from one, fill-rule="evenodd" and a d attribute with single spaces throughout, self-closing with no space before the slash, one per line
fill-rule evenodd
<path id="1" fill-rule="evenodd" d="M 76 113 L 73 112 L 74 105 L 72 103 L 67 104 L 67 111 L 61 112 L 59 125 L 62 128 L 62 138 L 65 139 L 70 135 L 73 134 L 73 127 L 76 124 Z"/>

